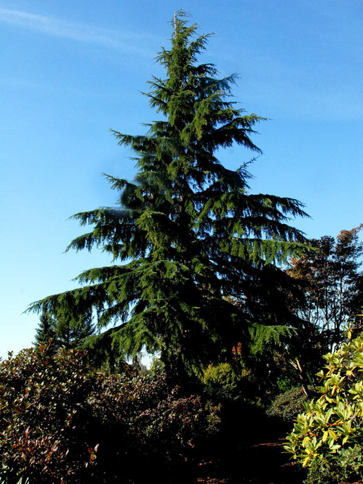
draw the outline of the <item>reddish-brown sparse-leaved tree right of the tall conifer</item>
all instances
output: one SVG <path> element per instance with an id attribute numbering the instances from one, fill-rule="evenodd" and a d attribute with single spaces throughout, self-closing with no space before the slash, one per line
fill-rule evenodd
<path id="1" fill-rule="evenodd" d="M 308 241 L 316 250 L 292 259 L 288 270 L 305 295 L 297 313 L 322 335 L 322 353 L 333 351 L 342 341 L 342 327 L 357 321 L 361 312 L 363 277 L 359 268 L 363 243 L 358 233 L 362 227 L 342 230 L 336 239 L 323 236 Z"/>

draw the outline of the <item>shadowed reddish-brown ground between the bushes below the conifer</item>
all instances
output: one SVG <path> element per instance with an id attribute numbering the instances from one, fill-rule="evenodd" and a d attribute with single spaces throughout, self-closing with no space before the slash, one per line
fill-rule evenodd
<path id="1" fill-rule="evenodd" d="M 225 407 L 223 426 L 187 484 L 302 484 L 306 470 L 283 453 L 291 424 L 239 402 Z"/>

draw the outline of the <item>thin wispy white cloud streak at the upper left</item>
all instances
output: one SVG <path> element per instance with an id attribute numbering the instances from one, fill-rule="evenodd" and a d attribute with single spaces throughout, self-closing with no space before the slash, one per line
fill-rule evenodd
<path id="1" fill-rule="evenodd" d="M 145 40 L 155 39 L 152 35 L 134 34 L 99 28 L 87 24 L 68 22 L 57 17 L 38 15 L 19 10 L 0 8 L 0 22 L 13 26 L 41 32 L 53 37 L 62 37 L 86 44 L 95 44 L 106 48 L 122 50 L 124 53 L 150 57 L 150 51 L 145 49 Z M 156 39 L 155 39 L 156 40 Z M 151 55 L 153 55 L 151 53 Z"/>

